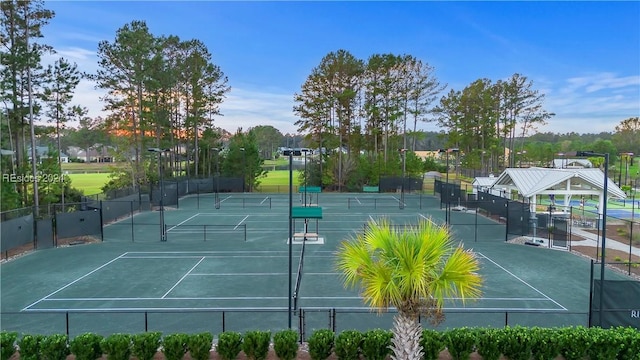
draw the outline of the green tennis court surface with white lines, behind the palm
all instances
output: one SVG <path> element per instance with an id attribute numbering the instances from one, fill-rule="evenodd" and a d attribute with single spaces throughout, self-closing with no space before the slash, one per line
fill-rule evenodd
<path id="1" fill-rule="evenodd" d="M 293 200 L 299 206 L 297 194 Z M 424 195 L 318 194 L 315 200 L 322 219 L 309 220 L 306 231 L 296 219 L 294 232 L 319 237 L 291 246 L 287 195 L 232 194 L 221 195 L 217 209 L 213 196 L 181 199 L 164 211 L 164 227 L 159 211 L 141 212 L 106 226 L 104 242 L 14 259 L 2 265 L 2 328 L 71 335 L 276 331 L 288 326 L 290 279 L 293 326 L 301 332 L 390 328 L 392 314 L 371 313 L 356 290 L 343 288 L 334 251 L 369 221 L 443 222 L 444 210 Z M 441 327 L 586 325 L 588 260 L 505 243 L 504 225 L 481 221 L 487 226 L 480 236 L 470 225 L 453 231 L 477 252 L 483 297 L 466 304 L 448 299 Z"/>

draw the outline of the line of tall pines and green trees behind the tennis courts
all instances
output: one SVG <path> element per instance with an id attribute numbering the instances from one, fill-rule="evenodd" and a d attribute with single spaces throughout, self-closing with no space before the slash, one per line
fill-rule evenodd
<path id="1" fill-rule="evenodd" d="M 570 134 L 534 135 L 554 114 L 544 108 L 544 94 L 521 74 L 479 79 L 454 90 L 415 56 L 373 54 L 362 60 L 347 50 L 325 55 L 293 95 L 298 134 L 283 135 L 271 126 L 227 133 L 215 126 L 215 119 L 231 88 L 201 40 L 156 35 L 144 21 L 131 21 L 113 39 L 99 42 L 98 70 L 82 73 L 63 57 L 42 63 L 44 55 L 56 54 L 43 39 L 42 29 L 55 17 L 43 1 L 10 0 L 0 6 L 3 174 L 55 172 L 63 178 L 59 154 L 73 139 L 86 150 L 109 148 L 118 160 L 110 187 L 146 185 L 158 179 L 158 169 L 167 176 L 190 177 L 211 176 L 216 169 L 243 176 L 251 188 L 264 175 L 262 159 L 273 157 L 277 147 L 304 146 L 326 149 L 318 169 L 304 176 L 315 185 L 344 189 L 348 183 L 375 183 L 381 173 L 419 174 L 425 165 L 411 150 L 455 148 L 464 154 L 462 166 L 495 171 L 515 165 L 523 154 L 527 161 L 542 163 L 551 154 L 595 141 L 579 144 L 559 142 L 572 139 Z M 83 104 L 73 103 L 82 79 L 106 92 L 104 117 L 88 117 Z M 38 125 L 42 122 L 47 125 Z M 79 124 L 77 129 L 69 122 Z M 439 132 L 421 131 L 426 122 L 437 124 Z M 639 129 L 638 118 L 626 119 L 615 133 L 600 137 L 605 143 L 595 145 L 612 154 L 640 153 Z M 47 139 L 57 156 L 30 161 Z M 161 157 L 147 151 L 151 147 L 170 150 L 164 166 L 158 166 Z M 72 192 L 68 181 L 40 187 L 47 188 L 47 198 L 37 182 L 3 179 L 3 209 L 64 202 Z"/>

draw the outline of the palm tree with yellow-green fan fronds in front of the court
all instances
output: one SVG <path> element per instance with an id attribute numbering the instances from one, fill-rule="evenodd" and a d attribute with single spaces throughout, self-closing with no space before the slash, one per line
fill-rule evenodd
<path id="1" fill-rule="evenodd" d="M 478 298 L 482 278 L 474 253 L 454 246 L 446 226 L 422 220 L 399 229 L 383 218 L 340 244 L 337 269 L 345 287 L 358 287 L 365 303 L 382 312 L 393 306 L 394 360 L 422 356 L 420 315 L 434 324 L 444 320 L 447 298 Z"/>

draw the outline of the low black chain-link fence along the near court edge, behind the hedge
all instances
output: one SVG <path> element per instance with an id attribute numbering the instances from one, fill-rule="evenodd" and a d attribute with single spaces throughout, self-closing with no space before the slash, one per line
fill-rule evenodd
<path id="1" fill-rule="evenodd" d="M 317 329 L 330 329 L 336 333 L 344 330 L 366 331 L 388 329 L 393 324 L 396 311 L 378 314 L 368 308 L 314 308 L 300 307 L 294 311 L 301 342 L 306 341 Z M 219 309 L 153 309 L 153 310 L 29 310 L 0 313 L 3 330 L 20 333 L 67 334 L 70 337 L 93 332 L 107 336 L 115 332 L 139 333 L 160 331 L 171 333 L 196 333 L 208 331 L 218 336 L 224 331 L 246 332 L 287 328 L 287 308 L 219 308 Z M 588 326 L 588 312 L 565 310 L 446 310 L 445 321 L 433 326 L 421 318 L 424 328 L 445 330 L 457 327 L 506 327 L 540 326 L 565 327 Z M 295 323 L 295 322 L 294 322 Z"/>

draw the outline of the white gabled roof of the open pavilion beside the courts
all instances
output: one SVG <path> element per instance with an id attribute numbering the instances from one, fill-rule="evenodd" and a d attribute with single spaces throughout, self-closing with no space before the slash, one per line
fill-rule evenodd
<path id="1" fill-rule="evenodd" d="M 572 186 L 596 189 L 602 192 L 604 173 L 597 168 L 589 169 L 548 169 L 548 168 L 509 168 L 498 180 L 496 186 L 515 187 L 522 196 L 531 197 L 543 191 L 564 189 L 567 180 Z M 608 197 L 624 199 L 626 194 L 611 179 L 607 179 Z"/>

